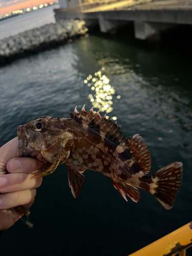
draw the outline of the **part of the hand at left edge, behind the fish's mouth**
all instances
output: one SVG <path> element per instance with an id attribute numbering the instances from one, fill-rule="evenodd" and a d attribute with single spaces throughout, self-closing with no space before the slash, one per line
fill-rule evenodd
<path id="1" fill-rule="evenodd" d="M 14 138 L 0 148 L 0 172 L 6 170 L 7 162 L 13 157 L 21 157 L 22 151 L 18 149 L 18 138 Z"/>

